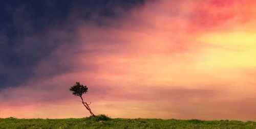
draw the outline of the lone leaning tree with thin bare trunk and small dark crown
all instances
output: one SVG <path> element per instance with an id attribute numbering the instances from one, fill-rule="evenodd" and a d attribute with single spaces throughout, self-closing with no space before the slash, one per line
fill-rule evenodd
<path id="1" fill-rule="evenodd" d="M 82 99 L 81 102 L 82 102 L 83 106 L 86 107 L 86 109 L 90 112 L 90 114 L 93 117 L 95 117 L 95 115 L 93 114 L 92 110 L 89 107 L 91 102 L 90 102 L 90 104 L 87 104 L 87 102 L 83 101 L 83 98 L 82 98 L 82 95 L 88 91 L 87 86 L 83 86 L 79 82 L 76 82 L 76 84 L 74 84 L 72 87 L 70 87 L 69 90 L 73 92 L 73 95 L 79 96 Z"/>

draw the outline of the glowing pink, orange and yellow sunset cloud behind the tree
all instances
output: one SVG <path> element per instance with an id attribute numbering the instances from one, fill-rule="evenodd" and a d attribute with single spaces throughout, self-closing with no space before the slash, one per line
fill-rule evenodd
<path id="1" fill-rule="evenodd" d="M 242 20 L 242 12 L 246 10 L 239 4 L 238 1 L 150 1 L 115 18 L 96 13 L 91 15 L 92 19 L 84 19 L 74 9 L 65 23 L 21 40 L 22 45 L 17 48 L 24 51 L 24 57 L 28 57 L 31 48 L 26 49 L 23 44 L 31 43 L 29 46 L 34 47 L 37 41 L 49 45 L 33 53 L 47 56 L 31 67 L 32 78 L 19 87 L 0 92 L 3 104 L 0 109 L 4 110 L 4 117 L 11 114 L 25 118 L 83 117 L 88 114 L 69 111 L 83 110 L 78 106 L 78 98 L 68 91 L 75 82 L 81 82 L 89 86 L 84 97 L 93 102 L 92 109 L 97 114 L 255 119 L 250 115 L 255 108 L 240 112 L 241 105 L 255 107 L 251 103 L 255 88 L 250 83 L 254 78 L 245 72 L 244 63 L 232 67 L 228 55 L 240 57 L 233 60 L 238 63 L 248 53 L 240 55 L 236 46 L 226 49 L 227 44 L 215 38 L 203 38 L 217 34 L 226 38 L 223 41 L 232 42 L 227 35 L 237 30 L 236 25 L 243 28 L 242 24 L 251 24 Z M 244 35 L 251 36 L 247 32 Z M 52 45 L 54 49 L 48 51 Z M 252 61 L 249 64 L 254 66 Z M 30 110 L 22 108 L 18 112 L 13 104 Z M 64 113 L 57 112 L 59 109 Z M 25 115 L 29 112 L 33 113 Z"/>

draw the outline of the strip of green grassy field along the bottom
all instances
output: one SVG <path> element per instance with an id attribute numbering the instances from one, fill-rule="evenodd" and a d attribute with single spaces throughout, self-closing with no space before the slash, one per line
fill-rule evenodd
<path id="1" fill-rule="evenodd" d="M 108 117 L 87 117 L 81 119 L 0 119 L 0 128 L 246 128 L 256 129 L 256 122 L 220 120 L 177 120 L 177 119 L 110 119 Z"/>

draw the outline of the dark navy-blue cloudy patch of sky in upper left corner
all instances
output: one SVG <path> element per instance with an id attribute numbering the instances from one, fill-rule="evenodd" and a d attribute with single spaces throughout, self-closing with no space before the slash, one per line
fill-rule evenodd
<path id="1" fill-rule="evenodd" d="M 20 85 L 33 76 L 33 67 L 61 43 L 74 38 L 76 19 L 93 20 L 92 14 L 117 18 L 143 4 L 138 0 L 88 1 L 1 1 L 0 2 L 0 90 Z M 118 12 L 115 9 L 121 8 Z M 66 38 L 51 36 L 52 31 L 69 33 Z"/>

